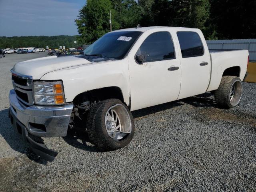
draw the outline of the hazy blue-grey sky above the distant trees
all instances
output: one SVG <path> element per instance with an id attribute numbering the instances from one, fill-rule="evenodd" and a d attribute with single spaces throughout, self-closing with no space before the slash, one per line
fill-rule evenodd
<path id="1" fill-rule="evenodd" d="M 86 0 L 0 0 L 0 36 L 78 35 Z"/>

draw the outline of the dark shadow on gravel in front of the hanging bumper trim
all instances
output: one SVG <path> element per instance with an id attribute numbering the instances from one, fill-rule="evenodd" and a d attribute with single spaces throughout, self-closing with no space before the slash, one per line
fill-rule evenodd
<path id="1" fill-rule="evenodd" d="M 22 140 L 22 137 L 12 128 L 8 118 L 8 109 L 0 111 L 0 134 L 8 145 L 15 151 L 26 154 L 26 156 L 37 163 L 47 164 L 47 161 L 38 157 L 30 148 L 29 144 Z"/>

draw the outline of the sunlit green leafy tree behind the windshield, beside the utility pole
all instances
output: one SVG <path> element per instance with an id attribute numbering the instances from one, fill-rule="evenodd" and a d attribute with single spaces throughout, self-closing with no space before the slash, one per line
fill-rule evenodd
<path id="1" fill-rule="evenodd" d="M 112 30 L 118 29 L 119 24 L 115 21 L 116 11 L 110 0 L 87 0 L 86 5 L 79 11 L 75 20 L 80 42 L 91 44 L 103 34 L 110 31 L 110 10 L 112 13 Z"/>

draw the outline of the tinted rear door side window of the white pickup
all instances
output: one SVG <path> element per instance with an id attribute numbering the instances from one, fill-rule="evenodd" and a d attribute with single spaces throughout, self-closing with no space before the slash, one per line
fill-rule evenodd
<path id="1" fill-rule="evenodd" d="M 183 58 L 204 55 L 202 41 L 196 32 L 180 31 L 177 36 Z"/>

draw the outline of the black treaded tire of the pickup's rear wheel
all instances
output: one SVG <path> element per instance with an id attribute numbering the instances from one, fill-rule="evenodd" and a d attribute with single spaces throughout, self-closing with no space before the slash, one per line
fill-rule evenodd
<path id="1" fill-rule="evenodd" d="M 236 91 L 234 91 L 234 96 L 231 97 L 230 93 L 233 90 L 233 86 Z M 217 104 L 220 106 L 224 108 L 233 108 L 240 102 L 242 90 L 243 87 L 240 78 L 236 76 L 223 76 L 218 89 L 215 90 L 214 97 Z"/>

